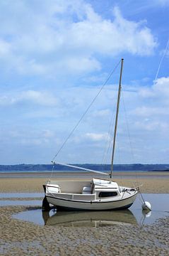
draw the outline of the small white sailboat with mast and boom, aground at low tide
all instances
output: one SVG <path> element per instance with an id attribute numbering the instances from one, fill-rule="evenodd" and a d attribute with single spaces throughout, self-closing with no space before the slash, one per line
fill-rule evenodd
<path id="1" fill-rule="evenodd" d="M 42 203 L 42 208 L 49 209 L 49 204 L 51 204 L 52 206 L 56 206 L 57 210 L 60 208 L 66 210 L 121 210 L 129 208 L 134 203 L 139 192 L 139 187 L 129 188 L 119 186 L 117 182 L 112 180 L 120 92 L 122 89 L 122 68 L 123 59 L 121 60 L 110 174 L 73 166 L 71 164 L 53 162 L 53 164 L 61 164 L 76 169 L 82 169 L 83 171 L 109 175 L 109 178 L 92 178 L 91 181 L 47 181 L 47 183 L 43 185 L 45 198 Z"/>

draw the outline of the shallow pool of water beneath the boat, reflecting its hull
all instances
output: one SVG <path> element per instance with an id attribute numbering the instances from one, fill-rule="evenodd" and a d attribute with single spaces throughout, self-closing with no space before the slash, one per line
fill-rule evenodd
<path id="1" fill-rule="evenodd" d="M 30 221 L 37 225 L 62 225 L 72 227 L 104 226 L 104 225 L 142 225 L 152 224 L 158 218 L 169 214 L 168 194 L 143 194 L 145 201 L 149 201 L 152 211 L 145 213 L 141 209 L 141 201 L 136 198 L 129 210 L 107 211 L 58 211 L 42 212 L 41 209 L 26 210 L 13 215 L 13 218 Z M 16 201 L 15 201 L 16 202 Z M 13 205 L 16 203 L 13 202 Z M 21 201 L 20 201 L 21 202 Z M 24 201 L 23 201 L 24 202 Z M 33 201 L 32 201 L 33 202 Z M 35 202 L 35 201 L 34 201 Z M 1 203 L 1 202 L 0 202 Z M 23 205 L 23 204 L 20 204 Z M 30 205 L 30 201 L 25 201 Z M 36 206 L 41 206 L 42 201 L 37 201 Z M 32 206 L 35 206 L 33 204 Z"/>

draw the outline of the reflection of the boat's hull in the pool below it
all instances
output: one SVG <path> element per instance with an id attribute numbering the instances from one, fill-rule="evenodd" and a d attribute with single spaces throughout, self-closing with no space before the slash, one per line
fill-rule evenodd
<path id="1" fill-rule="evenodd" d="M 42 211 L 45 225 L 66 227 L 100 227 L 105 225 L 137 225 L 130 210 L 106 211 L 58 211 L 50 216 L 49 211 Z"/>

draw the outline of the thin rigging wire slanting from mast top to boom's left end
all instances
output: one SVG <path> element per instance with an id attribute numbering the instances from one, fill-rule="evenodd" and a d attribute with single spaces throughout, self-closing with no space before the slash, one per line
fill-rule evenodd
<path id="1" fill-rule="evenodd" d="M 74 133 L 74 131 L 76 130 L 76 128 L 78 127 L 78 125 L 81 123 L 81 120 L 83 119 L 83 117 L 86 115 L 86 113 L 88 112 L 88 110 L 91 108 L 91 105 L 93 105 L 93 102 L 95 102 L 96 98 L 98 97 L 98 95 L 100 95 L 100 92 L 103 90 L 103 87 L 105 87 L 105 85 L 107 84 L 108 80 L 110 80 L 112 74 L 115 72 L 115 70 L 117 69 L 118 65 L 120 65 L 121 60 L 119 61 L 119 63 L 117 63 L 117 65 L 115 66 L 115 68 L 112 70 L 112 72 L 110 73 L 110 75 L 108 76 L 108 78 L 105 80 L 105 82 L 103 83 L 102 87 L 100 88 L 100 90 L 98 91 L 97 95 L 95 95 L 94 99 L 92 100 L 92 102 L 90 103 L 90 105 L 88 105 L 86 111 L 82 114 L 81 118 L 78 120 L 78 122 L 76 123 L 76 125 L 74 126 L 74 128 L 71 130 L 71 132 L 69 133 L 68 137 L 66 137 L 66 139 L 64 140 L 62 146 L 59 148 L 59 150 L 57 151 L 57 154 L 55 154 L 55 156 L 52 159 L 52 163 L 54 163 L 54 159 L 57 157 L 57 155 L 59 154 L 59 152 L 63 149 L 64 145 L 66 144 L 66 142 L 69 140 L 69 138 L 71 137 L 71 135 Z"/>

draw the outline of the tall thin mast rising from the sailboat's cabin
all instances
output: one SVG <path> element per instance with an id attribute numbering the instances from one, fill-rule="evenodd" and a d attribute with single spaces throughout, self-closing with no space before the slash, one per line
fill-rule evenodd
<path id="1" fill-rule="evenodd" d="M 121 70 L 120 70 L 120 80 L 119 80 L 119 90 L 118 90 L 118 97 L 117 97 L 117 110 L 116 110 L 116 117 L 115 117 L 115 132 L 114 132 L 114 138 L 113 138 L 113 145 L 112 145 L 112 162 L 111 162 L 111 173 L 110 173 L 110 180 L 112 179 L 112 171 L 113 171 L 113 160 L 115 155 L 115 139 L 116 139 L 116 133 L 117 133 L 117 122 L 118 122 L 118 114 L 119 114 L 119 105 L 120 105 L 120 92 L 122 89 L 122 68 L 123 68 L 123 58 L 121 61 Z"/>

